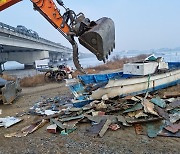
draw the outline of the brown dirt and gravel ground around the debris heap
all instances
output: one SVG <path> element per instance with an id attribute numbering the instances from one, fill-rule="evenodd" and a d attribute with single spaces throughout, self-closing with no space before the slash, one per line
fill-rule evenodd
<path id="1" fill-rule="evenodd" d="M 180 85 L 169 88 L 168 91 L 179 91 Z M 20 97 L 12 105 L 0 105 L 2 114 L 0 117 L 14 116 L 16 113 L 27 111 L 35 102 L 43 97 L 60 96 L 64 100 L 72 97 L 68 87 L 64 83 L 51 83 L 35 88 L 23 89 Z M 62 100 L 63 101 L 63 100 Z M 120 129 L 117 131 L 108 130 L 100 137 L 89 136 L 86 129 L 90 124 L 80 124 L 78 129 L 68 136 L 50 134 L 46 131 L 46 124 L 43 128 L 22 138 L 5 138 L 4 134 L 21 130 L 33 122 L 36 118 L 32 115 L 24 115 L 24 120 L 10 128 L 0 128 L 0 154 L 133 154 L 133 153 L 180 153 L 180 138 L 157 137 L 148 138 L 143 135 L 136 135 L 134 128 Z"/>

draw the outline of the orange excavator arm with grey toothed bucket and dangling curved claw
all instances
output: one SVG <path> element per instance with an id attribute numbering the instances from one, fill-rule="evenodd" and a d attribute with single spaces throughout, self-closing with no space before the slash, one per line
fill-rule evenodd
<path id="1" fill-rule="evenodd" d="M 0 11 L 22 0 L 0 0 Z M 62 0 L 56 0 L 57 4 L 65 9 L 61 15 L 60 10 L 53 0 L 30 0 L 33 7 L 45 17 L 72 45 L 73 62 L 82 73 L 78 58 L 78 45 L 74 37 L 78 37 L 79 43 L 96 55 L 100 61 L 106 61 L 108 55 L 115 48 L 114 22 L 107 17 L 97 21 L 90 21 L 83 13 L 76 14 L 67 8 Z"/>

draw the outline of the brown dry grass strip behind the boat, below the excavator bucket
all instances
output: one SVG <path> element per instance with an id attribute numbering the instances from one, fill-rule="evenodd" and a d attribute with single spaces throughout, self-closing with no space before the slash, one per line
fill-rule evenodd
<path id="1" fill-rule="evenodd" d="M 108 61 L 106 64 L 89 67 L 89 68 L 85 69 L 85 71 L 88 74 L 94 74 L 94 73 L 98 73 L 100 71 L 121 69 L 121 68 L 123 68 L 123 64 L 129 63 L 129 62 L 141 61 L 141 60 L 144 60 L 147 56 L 148 55 L 145 55 L 145 54 L 139 55 L 136 57 L 132 57 L 132 58 L 127 58 L 127 57 L 120 58 L 119 56 L 114 56 L 112 58 L 112 60 Z M 77 75 L 80 75 L 80 74 L 81 73 L 79 71 L 75 71 L 73 73 L 73 77 L 76 77 Z"/>

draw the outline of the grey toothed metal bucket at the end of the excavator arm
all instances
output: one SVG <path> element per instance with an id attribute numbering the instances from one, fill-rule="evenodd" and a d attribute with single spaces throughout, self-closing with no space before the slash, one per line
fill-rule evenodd
<path id="1" fill-rule="evenodd" d="M 115 26 L 110 18 L 97 20 L 94 26 L 79 37 L 79 42 L 96 55 L 98 60 L 105 60 L 115 48 Z"/>

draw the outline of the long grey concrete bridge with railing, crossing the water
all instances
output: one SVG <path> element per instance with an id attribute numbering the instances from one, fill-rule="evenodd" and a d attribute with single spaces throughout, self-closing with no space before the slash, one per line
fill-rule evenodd
<path id="1" fill-rule="evenodd" d="M 0 22 L 0 64 L 6 61 L 32 64 L 39 59 L 70 57 L 72 49 Z"/>

